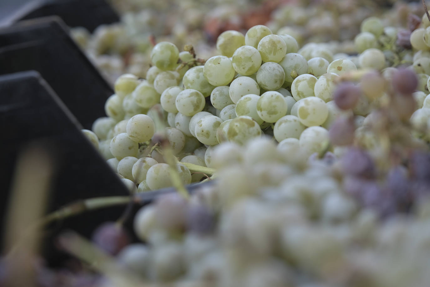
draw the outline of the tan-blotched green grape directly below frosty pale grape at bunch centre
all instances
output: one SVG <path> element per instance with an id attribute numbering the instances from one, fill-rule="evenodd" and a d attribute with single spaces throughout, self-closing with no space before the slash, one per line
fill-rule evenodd
<path id="1" fill-rule="evenodd" d="M 239 103 L 238 103 L 239 104 Z M 237 106 L 236 106 L 237 110 Z M 262 94 L 257 101 L 257 113 L 267 123 L 274 123 L 285 116 L 288 104 L 281 93 L 268 91 Z"/>

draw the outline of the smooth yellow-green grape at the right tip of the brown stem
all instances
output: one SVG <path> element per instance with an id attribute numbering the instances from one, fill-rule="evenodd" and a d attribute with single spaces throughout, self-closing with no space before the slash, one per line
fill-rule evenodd
<path id="1" fill-rule="evenodd" d="M 214 86 L 228 85 L 233 80 L 234 72 L 233 64 L 226 56 L 213 56 L 203 67 L 203 75 Z"/>

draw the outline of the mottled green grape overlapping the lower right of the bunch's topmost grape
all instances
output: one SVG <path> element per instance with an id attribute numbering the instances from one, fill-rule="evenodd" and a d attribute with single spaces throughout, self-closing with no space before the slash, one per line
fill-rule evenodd
<path id="1" fill-rule="evenodd" d="M 287 52 L 285 41 L 278 35 L 264 36 L 257 46 L 263 62 L 280 62 Z"/>

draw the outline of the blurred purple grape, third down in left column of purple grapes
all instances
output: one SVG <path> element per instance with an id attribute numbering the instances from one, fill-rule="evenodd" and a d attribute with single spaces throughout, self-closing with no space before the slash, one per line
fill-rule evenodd
<path id="1" fill-rule="evenodd" d="M 341 158 L 344 173 L 351 176 L 373 178 L 375 164 L 369 154 L 359 148 L 349 148 Z"/>

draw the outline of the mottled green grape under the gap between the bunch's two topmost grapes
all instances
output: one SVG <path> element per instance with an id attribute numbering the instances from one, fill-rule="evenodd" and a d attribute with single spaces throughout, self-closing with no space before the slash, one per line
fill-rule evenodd
<path id="1" fill-rule="evenodd" d="M 257 49 L 252 46 L 242 46 L 236 49 L 231 61 L 237 73 L 249 76 L 258 71 L 262 60 Z"/>

